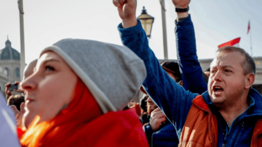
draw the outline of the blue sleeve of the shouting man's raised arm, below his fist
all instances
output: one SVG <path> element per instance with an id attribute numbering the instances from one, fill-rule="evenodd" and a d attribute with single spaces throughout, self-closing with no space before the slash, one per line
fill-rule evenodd
<path id="1" fill-rule="evenodd" d="M 197 94 L 186 91 L 183 87 L 171 79 L 164 71 L 149 48 L 147 35 L 144 32 L 141 22 L 130 28 L 122 28 L 118 25 L 118 31 L 122 43 L 136 53 L 145 63 L 147 78 L 143 82 L 143 87 L 147 94 L 177 130 L 182 130 L 192 100 Z"/>

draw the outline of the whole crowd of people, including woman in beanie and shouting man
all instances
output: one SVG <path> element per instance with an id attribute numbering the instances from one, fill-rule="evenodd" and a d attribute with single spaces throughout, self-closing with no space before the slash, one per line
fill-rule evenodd
<path id="1" fill-rule="evenodd" d="M 172 1 L 178 63 L 160 64 L 149 48 L 137 0 L 113 0 L 124 46 L 63 39 L 43 49 L 16 82 L 21 94 L 6 84 L 0 146 L 262 147 L 253 58 L 223 47 L 203 72 L 190 0 Z"/>

